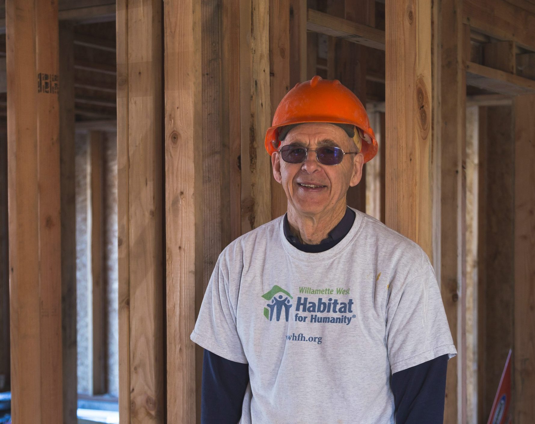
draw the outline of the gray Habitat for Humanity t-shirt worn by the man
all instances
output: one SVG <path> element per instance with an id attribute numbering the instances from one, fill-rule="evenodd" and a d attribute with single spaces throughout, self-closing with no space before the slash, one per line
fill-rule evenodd
<path id="1" fill-rule="evenodd" d="M 425 252 L 354 211 L 324 252 L 282 217 L 221 252 L 191 338 L 249 364 L 241 424 L 393 423 L 391 374 L 457 353 Z"/>

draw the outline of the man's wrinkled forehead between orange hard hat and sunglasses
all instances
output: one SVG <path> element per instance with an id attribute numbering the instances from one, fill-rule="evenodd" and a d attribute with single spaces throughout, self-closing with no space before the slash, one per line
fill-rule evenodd
<path id="1" fill-rule="evenodd" d="M 288 131 L 281 146 L 297 142 L 304 145 L 335 144 L 343 149 L 350 148 L 353 145 L 353 140 L 349 138 L 346 131 L 338 127 L 338 125 L 324 122 L 309 122 L 296 125 L 296 127 Z"/>

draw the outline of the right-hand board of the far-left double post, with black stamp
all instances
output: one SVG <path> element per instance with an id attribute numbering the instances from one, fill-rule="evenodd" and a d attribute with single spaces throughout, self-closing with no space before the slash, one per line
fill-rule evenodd
<path id="1" fill-rule="evenodd" d="M 41 399 L 43 422 L 63 420 L 62 283 L 59 166 L 59 30 L 57 3 L 35 3 L 35 50 L 37 78 L 37 148 L 39 184 L 39 243 L 41 297 Z M 38 18 L 37 18 L 38 17 Z M 51 81 L 47 93 L 48 73 Z M 56 80 L 56 81 L 55 81 Z M 45 400 L 50 392 L 58 393 Z"/>

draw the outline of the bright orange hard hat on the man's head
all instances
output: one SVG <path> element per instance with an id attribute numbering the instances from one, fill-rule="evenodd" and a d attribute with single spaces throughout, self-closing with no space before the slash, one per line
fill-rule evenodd
<path id="1" fill-rule="evenodd" d="M 272 142 L 280 144 L 279 131 L 282 127 L 306 122 L 354 125 L 363 139 L 364 162 L 377 153 L 379 146 L 366 109 L 357 96 L 337 79 L 330 81 L 315 76 L 286 93 L 275 111 L 272 126 L 266 132 L 265 147 L 268 153 L 271 155 L 277 151 Z"/>

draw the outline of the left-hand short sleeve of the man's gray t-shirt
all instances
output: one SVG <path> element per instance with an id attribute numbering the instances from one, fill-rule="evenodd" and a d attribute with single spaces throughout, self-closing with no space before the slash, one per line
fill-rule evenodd
<path id="1" fill-rule="evenodd" d="M 224 254 L 219 256 L 201 310 L 190 338 L 197 345 L 234 362 L 247 363 L 236 329 L 236 299 L 233 299 Z"/>

